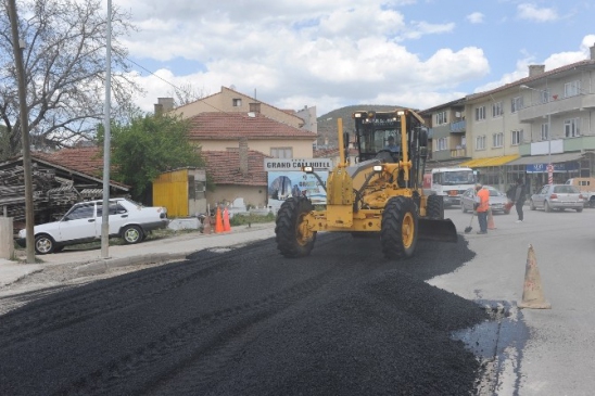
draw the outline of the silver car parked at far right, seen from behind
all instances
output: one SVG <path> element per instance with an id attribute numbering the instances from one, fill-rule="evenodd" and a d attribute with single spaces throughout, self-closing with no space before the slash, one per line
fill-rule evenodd
<path id="1" fill-rule="evenodd" d="M 531 195 L 529 207 L 531 210 L 543 208 L 545 212 L 553 209 L 583 212 L 584 196 L 575 186 L 545 184 L 537 193 Z"/>

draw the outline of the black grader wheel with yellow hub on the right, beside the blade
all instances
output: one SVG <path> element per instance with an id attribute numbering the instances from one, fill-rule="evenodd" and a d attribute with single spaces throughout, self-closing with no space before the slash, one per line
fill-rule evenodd
<path id="1" fill-rule="evenodd" d="M 394 196 L 382 213 L 380 244 L 387 258 L 409 258 L 415 253 L 418 217 L 413 200 Z"/>

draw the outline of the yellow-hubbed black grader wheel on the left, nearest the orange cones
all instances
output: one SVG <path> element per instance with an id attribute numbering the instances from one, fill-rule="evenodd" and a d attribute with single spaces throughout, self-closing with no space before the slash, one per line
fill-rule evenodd
<path id="1" fill-rule="evenodd" d="M 290 197 L 277 213 L 275 234 L 277 248 L 289 258 L 307 256 L 314 247 L 316 232 L 309 231 L 304 217 L 314 209 L 303 196 Z"/>

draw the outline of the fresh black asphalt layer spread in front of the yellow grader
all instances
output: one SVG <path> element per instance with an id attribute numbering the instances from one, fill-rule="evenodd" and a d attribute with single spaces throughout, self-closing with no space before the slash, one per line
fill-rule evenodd
<path id="1" fill-rule="evenodd" d="M 327 233 L 301 259 L 270 239 L 36 293 L 0 316 L 0 394 L 481 394 L 453 333 L 493 317 L 426 282 L 473 257 L 460 235 L 389 261 Z"/>

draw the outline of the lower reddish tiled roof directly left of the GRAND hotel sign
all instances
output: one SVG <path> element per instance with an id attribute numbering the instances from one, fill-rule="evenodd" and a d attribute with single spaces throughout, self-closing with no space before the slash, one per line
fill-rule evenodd
<path id="1" fill-rule="evenodd" d="M 202 151 L 201 155 L 215 184 L 267 186 L 264 159 L 268 156 L 258 151 L 248 151 L 246 176 L 240 173 L 239 151 Z"/>

